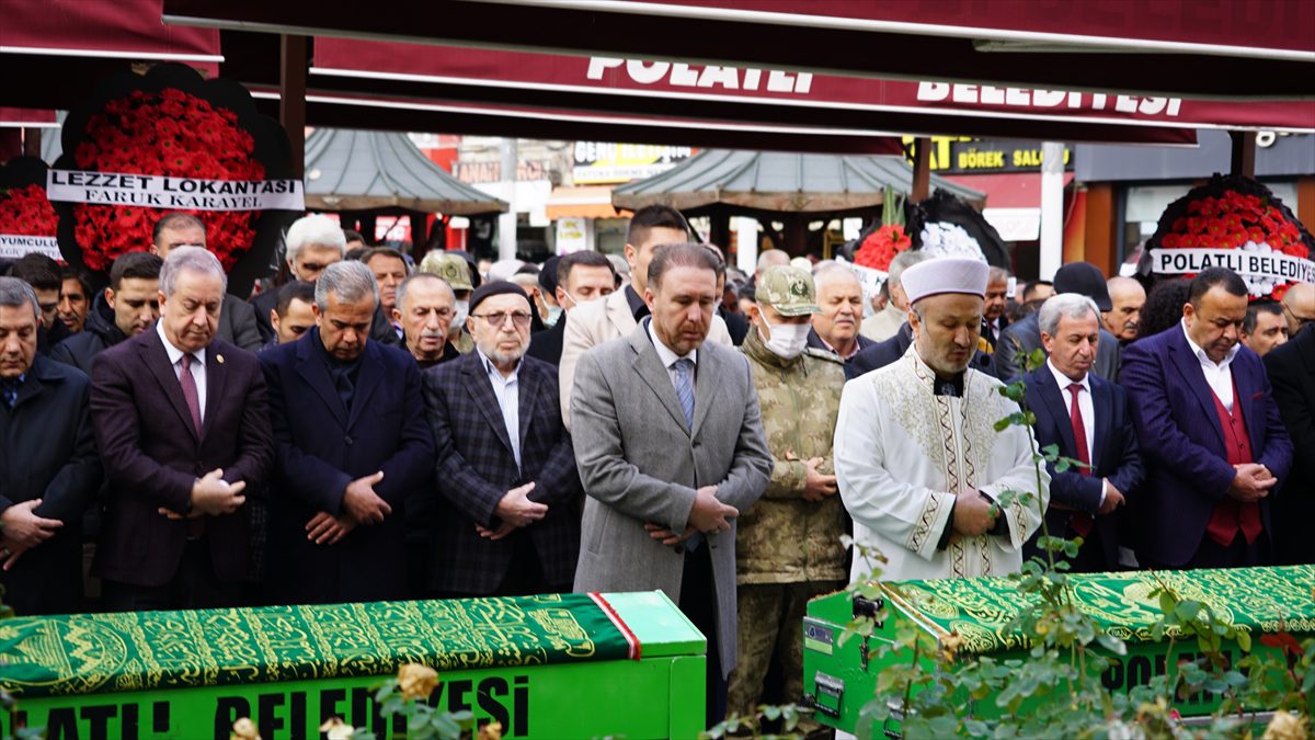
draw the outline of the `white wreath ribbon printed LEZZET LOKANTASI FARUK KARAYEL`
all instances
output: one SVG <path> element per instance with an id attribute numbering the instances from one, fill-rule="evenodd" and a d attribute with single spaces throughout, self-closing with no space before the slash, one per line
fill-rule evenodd
<path id="1" fill-rule="evenodd" d="M 50 170 L 46 194 L 53 201 L 138 205 L 178 211 L 304 211 L 301 180 L 208 180 Z"/>

